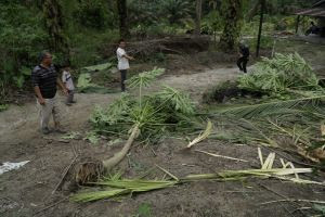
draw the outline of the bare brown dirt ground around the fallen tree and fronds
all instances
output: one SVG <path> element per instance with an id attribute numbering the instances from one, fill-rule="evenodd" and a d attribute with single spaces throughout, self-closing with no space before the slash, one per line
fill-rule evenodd
<path id="1" fill-rule="evenodd" d="M 168 75 L 153 87 L 160 85 L 188 92 L 195 101 L 208 87 L 238 75 L 236 68 L 218 68 L 186 75 Z M 62 105 L 65 125 L 70 131 L 84 135 L 89 129 L 88 118 L 95 104 L 106 105 L 120 93 L 77 94 L 78 103 L 72 107 Z M 11 106 L 0 113 L 0 162 L 30 161 L 18 170 L 0 176 L 0 216 L 3 217 L 131 217 L 144 216 L 141 207 L 150 207 L 157 217 L 250 217 L 250 216 L 309 216 L 310 209 L 300 209 L 297 203 L 260 203 L 287 199 L 325 200 L 324 188 L 302 186 L 280 180 L 246 180 L 243 182 L 203 181 L 132 195 L 116 201 L 100 201 L 88 204 L 69 202 L 69 191 L 63 189 L 52 194 L 64 169 L 76 153 L 107 157 L 120 145 L 107 145 L 103 139 L 96 145 L 83 140 L 60 141 L 61 135 L 42 137 L 38 131 L 38 114 L 35 102 L 24 106 Z M 186 136 L 184 135 L 184 138 Z M 247 159 L 238 163 L 208 157 L 196 152 L 184 152 L 184 139 L 166 138 L 157 145 L 135 145 L 128 159 L 119 168 L 127 177 L 138 177 L 155 164 L 176 176 L 214 173 L 225 169 L 258 168 L 257 148 L 233 145 L 207 140 L 199 148 L 212 153 Z M 268 153 L 266 150 L 263 152 Z M 285 153 L 283 153 L 286 155 Z M 159 178 L 162 174 L 156 173 Z M 322 180 L 321 180 L 322 181 Z M 308 204 L 312 207 L 312 204 Z"/>

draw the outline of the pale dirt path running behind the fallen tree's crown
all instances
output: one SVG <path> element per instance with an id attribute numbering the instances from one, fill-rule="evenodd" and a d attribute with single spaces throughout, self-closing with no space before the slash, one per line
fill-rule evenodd
<path id="1" fill-rule="evenodd" d="M 191 75 L 165 76 L 153 85 L 153 89 L 157 89 L 160 85 L 168 85 L 184 90 L 193 99 L 199 100 L 207 87 L 221 80 L 233 79 L 236 75 L 236 68 L 219 68 Z M 64 124 L 68 126 L 69 130 L 82 128 L 96 104 L 106 105 L 119 94 L 76 94 L 78 103 L 74 106 L 69 107 L 61 103 Z M 60 101 L 63 101 L 63 97 L 60 97 Z M 37 137 L 39 136 L 36 131 L 37 128 L 38 112 L 35 102 L 24 106 L 12 105 L 8 111 L 0 113 L 1 142 L 16 143 L 28 140 L 30 137 Z"/>

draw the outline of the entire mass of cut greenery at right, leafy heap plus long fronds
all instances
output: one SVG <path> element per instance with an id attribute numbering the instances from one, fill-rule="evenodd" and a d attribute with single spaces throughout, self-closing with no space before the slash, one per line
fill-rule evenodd
<path id="1" fill-rule="evenodd" d="M 210 110 L 218 119 L 217 128 L 219 125 L 214 138 L 276 146 L 313 162 L 325 159 L 325 137 L 321 133 L 325 91 L 299 54 L 264 59 L 255 72 L 239 77 L 238 84 L 271 98 L 246 99 L 247 104 L 233 102 Z"/>

